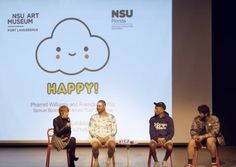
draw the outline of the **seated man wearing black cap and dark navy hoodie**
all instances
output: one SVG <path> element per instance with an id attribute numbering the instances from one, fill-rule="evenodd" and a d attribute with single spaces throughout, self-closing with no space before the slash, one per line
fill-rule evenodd
<path id="1" fill-rule="evenodd" d="M 157 160 L 156 148 L 165 148 L 166 154 L 163 159 L 163 167 L 167 167 L 167 160 L 173 150 L 172 137 L 174 136 L 174 123 L 173 119 L 165 111 L 166 105 L 163 102 L 155 103 L 155 115 L 149 120 L 149 133 L 150 133 L 150 154 L 154 159 L 154 167 L 159 167 Z"/>

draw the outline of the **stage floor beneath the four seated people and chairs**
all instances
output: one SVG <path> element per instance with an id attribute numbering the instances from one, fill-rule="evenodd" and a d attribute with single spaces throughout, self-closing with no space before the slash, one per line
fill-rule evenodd
<path id="1" fill-rule="evenodd" d="M 44 167 L 46 159 L 46 147 L 2 147 L 0 148 L 0 167 Z M 236 167 L 236 147 L 220 147 L 220 156 L 223 164 L 221 167 Z M 76 162 L 78 167 L 89 167 L 91 160 L 90 147 L 77 147 L 77 155 L 80 157 Z M 163 151 L 158 152 L 159 160 L 163 157 Z M 129 161 L 127 161 L 127 156 Z M 148 147 L 131 147 L 127 152 L 125 147 L 118 147 L 115 154 L 116 167 L 146 167 L 148 158 Z M 104 167 L 106 150 L 100 153 L 100 166 Z M 186 162 L 186 147 L 174 148 L 172 154 L 174 167 L 183 167 Z M 198 167 L 210 167 L 210 154 L 201 150 L 199 154 Z M 66 167 L 65 151 L 52 151 L 51 167 Z"/>

